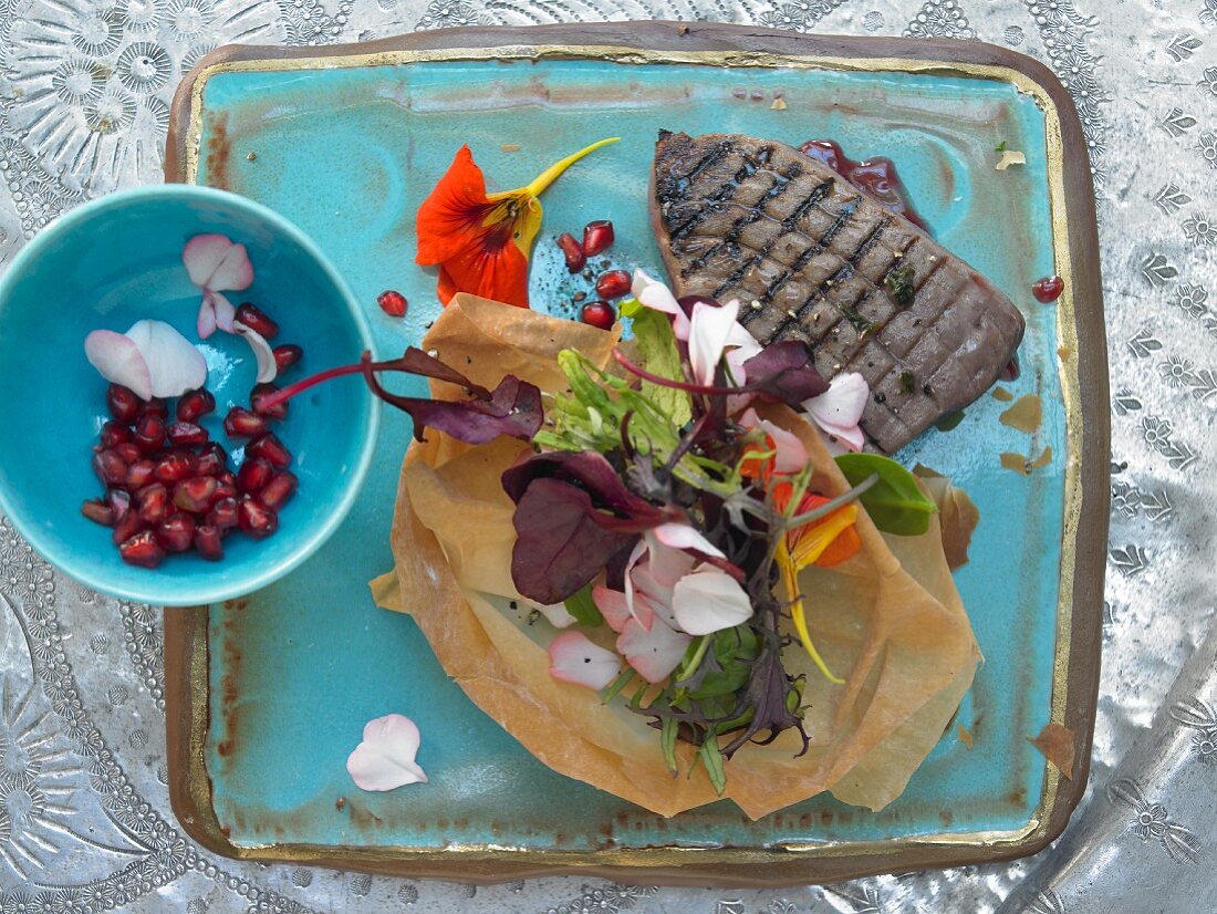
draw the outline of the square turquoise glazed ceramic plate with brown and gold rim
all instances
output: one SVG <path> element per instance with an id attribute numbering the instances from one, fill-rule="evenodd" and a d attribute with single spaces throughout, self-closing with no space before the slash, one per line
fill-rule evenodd
<path id="1" fill-rule="evenodd" d="M 560 231 L 611 219 L 613 263 L 658 271 L 647 183 L 662 128 L 830 138 L 852 157 L 893 158 L 937 239 L 1026 315 L 1021 376 L 1003 387 L 1039 394 L 1042 428 L 1000 424 L 1008 404 L 986 396 L 957 428 L 901 454 L 953 476 L 981 510 L 957 576 L 985 654 L 963 730 L 953 724 L 879 813 L 824 795 L 755 823 L 728 802 L 664 820 L 555 774 L 465 699 L 410 618 L 369 596 L 369 579 L 392 566 L 410 438 L 408 417 L 386 410 L 357 506 L 307 565 L 247 599 L 166 613 L 174 808 L 201 842 L 248 859 L 465 880 L 579 869 L 778 884 L 1031 853 L 1064 828 L 1094 719 L 1107 398 L 1084 144 L 1042 66 L 972 43 L 675 23 L 234 47 L 179 91 L 169 179 L 226 187 L 295 220 L 391 357 L 437 313 L 434 276 L 414 264 L 414 213 L 461 144 L 505 189 L 591 140 L 622 138 L 545 195 L 532 296 L 568 315 L 587 284 L 567 276 Z M 1003 142 L 1026 164 L 994 170 Z M 1031 285 L 1051 273 L 1065 293 L 1043 305 Z M 377 308 L 386 288 L 410 301 L 404 320 Z M 265 305 L 287 310 L 291 299 Z M 1049 448 L 1030 475 L 999 460 Z M 419 723 L 431 780 L 364 794 L 344 762 L 364 723 L 388 712 Z M 1028 741 L 1049 722 L 1073 733 L 1072 780 Z"/>

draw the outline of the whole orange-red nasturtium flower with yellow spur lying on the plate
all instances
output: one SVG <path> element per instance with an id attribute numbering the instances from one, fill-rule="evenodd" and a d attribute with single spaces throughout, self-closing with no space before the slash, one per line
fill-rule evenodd
<path id="1" fill-rule="evenodd" d="M 458 292 L 528 307 L 528 254 L 540 230 L 540 195 L 562 172 L 618 138 L 600 140 L 542 172 L 523 187 L 486 192 L 486 178 L 461 146 L 419 207 L 415 263 L 439 267 L 444 304 Z"/>

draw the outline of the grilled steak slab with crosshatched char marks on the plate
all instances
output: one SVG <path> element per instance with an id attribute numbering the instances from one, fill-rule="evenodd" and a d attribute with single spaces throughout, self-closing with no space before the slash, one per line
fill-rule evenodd
<path id="1" fill-rule="evenodd" d="M 867 379 L 860 425 L 885 453 L 980 397 L 1022 340 L 983 276 L 780 142 L 661 133 L 652 217 L 678 296 L 739 298 L 762 343 L 803 340 L 825 377 Z"/>

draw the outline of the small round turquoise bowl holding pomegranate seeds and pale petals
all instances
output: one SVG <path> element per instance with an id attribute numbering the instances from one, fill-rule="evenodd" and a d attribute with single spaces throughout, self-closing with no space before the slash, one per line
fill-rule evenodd
<path id="1" fill-rule="evenodd" d="M 225 538 L 225 556 L 192 551 L 157 568 L 127 565 L 111 531 L 80 515 L 103 492 L 90 447 L 110 415 L 107 382 L 89 364 L 84 338 L 124 332 L 155 318 L 196 342 L 200 291 L 181 263 L 186 241 L 219 232 L 249 252 L 254 281 L 230 295 L 256 303 L 280 325 L 273 344 L 293 342 L 304 358 L 280 377 L 359 359 L 371 348 L 368 323 L 347 284 L 318 247 L 270 209 L 235 194 L 186 185 L 131 190 L 72 211 L 33 239 L 0 276 L 0 510 L 63 571 L 102 593 L 157 605 L 211 604 L 251 593 L 309 557 L 337 529 L 371 462 L 378 400 L 358 376 L 320 385 L 291 402 L 275 433 L 295 458 L 299 489 L 260 542 Z M 239 462 L 240 439 L 221 419 L 248 405 L 257 369 L 236 336 L 198 344 L 215 413 L 202 422 Z"/>

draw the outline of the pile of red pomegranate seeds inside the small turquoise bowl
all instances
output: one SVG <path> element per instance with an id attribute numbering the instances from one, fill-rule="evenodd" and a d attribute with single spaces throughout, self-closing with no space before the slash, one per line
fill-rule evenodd
<path id="1" fill-rule="evenodd" d="M 252 304 L 236 319 L 267 340 L 279 325 Z M 275 347 L 284 371 L 304 354 L 292 343 Z M 123 561 L 155 568 L 173 553 L 194 549 L 203 559 L 224 557 L 224 538 L 240 529 L 254 539 L 279 528 L 279 511 L 295 494 L 298 481 L 287 467 L 292 455 L 270 430 L 287 416 L 287 404 L 265 406 L 277 388 L 259 383 L 249 408 L 232 406 L 224 416 L 230 438 L 245 438 L 245 460 L 229 464 L 229 454 L 211 441 L 201 421 L 214 413 L 215 397 L 206 388 L 178 398 L 175 419 L 162 399 L 140 399 L 120 385 L 110 385 L 106 405 L 111 419 L 94 447 L 92 469 L 106 492 L 80 512 L 113 528 L 112 539 Z"/>

